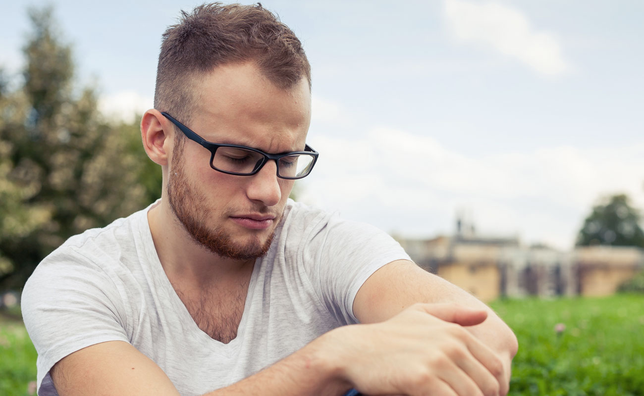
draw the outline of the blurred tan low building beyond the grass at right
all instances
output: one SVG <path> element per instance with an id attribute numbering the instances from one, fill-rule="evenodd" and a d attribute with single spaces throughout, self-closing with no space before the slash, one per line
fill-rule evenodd
<path id="1" fill-rule="evenodd" d="M 605 296 L 644 265 L 644 252 L 638 248 L 578 247 L 566 252 L 524 246 L 518 236 L 478 235 L 462 219 L 453 236 L 396 239 L 418 265 L 483 301 L 502 296 Z"/>

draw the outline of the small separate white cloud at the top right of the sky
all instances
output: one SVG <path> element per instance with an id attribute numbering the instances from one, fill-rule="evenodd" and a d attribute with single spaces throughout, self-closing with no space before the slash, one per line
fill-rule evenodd
<path id="1" fill-rule="evenodd" d="M 495 48 L 544 75 L 571 70 L 556 35 L 533 28 L 519 10 L 498 3 L 446 0 L 445 16 L 462 42 Z"/>

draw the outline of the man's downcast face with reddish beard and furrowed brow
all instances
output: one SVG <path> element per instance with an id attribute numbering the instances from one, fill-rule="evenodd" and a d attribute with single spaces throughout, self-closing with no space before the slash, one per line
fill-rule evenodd
<path id="1" fill-rule="evenodd" d="M 306 79 L 281 90 L 244 63 L 220 66 L 195 86 L 199 105 L 186 126 L 205 140 L 267 153 L 304 149 L 310 122 Z M 210 157 L 210 151 L 187 139 L 173 153 L 167 193 L 177 220 L 194 241 L 222 257 L 263 256 L 293 180 L 278 178 L 272 160 L 257 174 L 235 176 L 212 169 Z"/>

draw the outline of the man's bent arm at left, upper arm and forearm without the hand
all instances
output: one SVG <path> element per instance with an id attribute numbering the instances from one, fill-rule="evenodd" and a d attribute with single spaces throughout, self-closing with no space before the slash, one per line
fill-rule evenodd
<path id="1" fill-rule="evenodd" d="M 337 368 L 322 344 L 316 340 L 269 368 L 207 395 L 342 395 L 351 386 L 336 375 Z M 55 364 L 51 375 L 61 396 L 179 395 L 156 363 L 122 341 L 74 352 Z"/>

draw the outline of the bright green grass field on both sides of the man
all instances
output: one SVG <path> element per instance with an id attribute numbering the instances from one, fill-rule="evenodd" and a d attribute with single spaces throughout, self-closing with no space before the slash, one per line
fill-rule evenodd
<path id="1" fill-rule="evenodd" d="M 644 396 L 644 295 L 492 306 L 519 340 L 510 395 Z M 21 323 L 0 316 L 0 395 L 33 395 L 35 361 Z"/>

